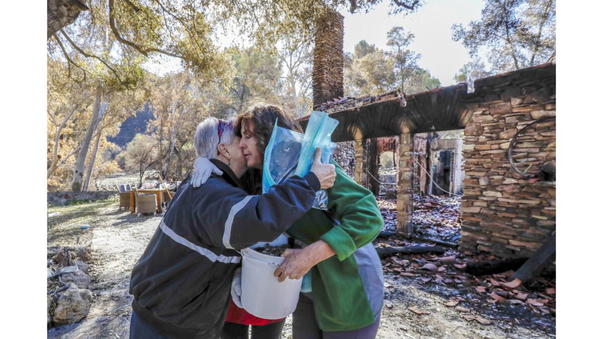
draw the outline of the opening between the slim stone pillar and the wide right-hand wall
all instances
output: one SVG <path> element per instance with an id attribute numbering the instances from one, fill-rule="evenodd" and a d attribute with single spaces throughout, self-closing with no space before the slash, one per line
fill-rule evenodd
<path id="1" fill-rule="evenodd" d="M 414 135 L 413 235 L 456 244 L 461 237 L 463 130 Z"/>

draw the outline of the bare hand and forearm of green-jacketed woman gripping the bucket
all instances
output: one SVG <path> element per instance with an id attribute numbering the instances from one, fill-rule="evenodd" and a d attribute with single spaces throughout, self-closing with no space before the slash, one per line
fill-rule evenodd
<path id="1" fill-rule="evenodd" d="M 285 261 L 274 270 L 274 276 L 279 278 L 279 282 L 283 282 L 287 277 L 301 279 L 312 266 L 333 255 L 335 252 L 323 240 L 314 242 L 301 250 L 285 250 L 281 255 Z"/>

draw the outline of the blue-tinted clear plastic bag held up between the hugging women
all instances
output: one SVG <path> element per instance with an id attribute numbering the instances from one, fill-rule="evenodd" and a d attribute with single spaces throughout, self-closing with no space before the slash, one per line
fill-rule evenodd
<path id="1" fill-rule="evenodd" d="M 329 163 L 336 146 L 331 142 L 331 135 L 338 123 L 326 113 L 314 111 L 304 135 L 279 127 L 275 122 L 264 152 L 262 191 L 268 192 L 270 186 L 282 183 L 295 174 L 300 177 L 308 174 L 314 162 L 316 147 L 322 150 L 321 161 Z M 327 209 L 327 192 L 324 189 L 316 192 L 312 207 Z"/>

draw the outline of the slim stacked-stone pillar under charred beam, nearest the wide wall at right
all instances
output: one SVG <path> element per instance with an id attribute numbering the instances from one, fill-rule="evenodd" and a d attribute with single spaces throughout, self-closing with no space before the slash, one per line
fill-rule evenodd
<path id="1" fill-rule="evenodd" d="M 399 162 L 398 178 L 396 188 L 398 190 L 396 209 L 397 209 L 397 232 L 403 236 L 409 236 L 412 233 L 412 153 L 414 142 L 411 133 L 402 133 L 399 136 Z"/>

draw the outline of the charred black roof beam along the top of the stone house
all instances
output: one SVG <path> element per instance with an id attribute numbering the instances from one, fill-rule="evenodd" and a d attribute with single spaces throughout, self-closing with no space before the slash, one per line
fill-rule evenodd
<path id="1" fill-rule="evenodd" d="M 466 103 L 489 101 L 494 95 L 514 97 L 521 94 L 521 89 L 514 83 L 525 83 L 526 78 L 537 82 L 551 77 L 555 77 L 555 64 L 546 63 L 478 79 L 473 93 L 467 93 L 467 84 L 461 83 L 409 95 L 393 90 L 376 97 L 339 97 L 316 109 L 339 121 L 332 136 L 335 142 L 408 132 L 458 130 L 464 128 L 471 118 L 464 110 Z M 539 94 L 546 95 L 544 92 L 535 93 Z M 298 120 L 301 127 L 306 127 L 308 119 L 309 116 L 305 116 Z"/>

